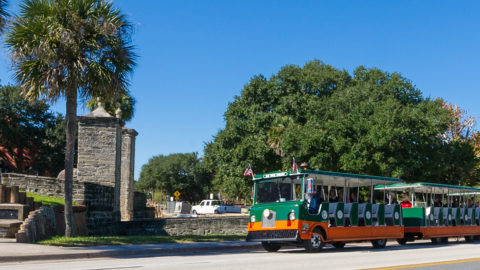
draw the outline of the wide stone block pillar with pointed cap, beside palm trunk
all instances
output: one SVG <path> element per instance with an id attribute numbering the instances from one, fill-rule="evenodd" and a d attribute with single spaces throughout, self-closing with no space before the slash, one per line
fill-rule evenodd
<path id="1" fill-rule="evenodd" d="M 78 181 L 85 185 L 91 234 L 113 233 L 120 221 L 122 130 L 120 121 L 99 107 L 78 117 Z"/>

